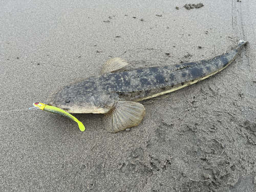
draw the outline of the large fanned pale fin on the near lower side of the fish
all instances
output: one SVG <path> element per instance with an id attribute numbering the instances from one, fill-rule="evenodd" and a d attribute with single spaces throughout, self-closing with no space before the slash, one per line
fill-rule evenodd
<path id="1" fill-rule="evenodd" d="M 123 131 L 137 126 L 145 115 L 145 108 L 141 103 L 133 101 L 116 101 L 113 108 L 104 114 L 103 122 L 111 133 Z"/>

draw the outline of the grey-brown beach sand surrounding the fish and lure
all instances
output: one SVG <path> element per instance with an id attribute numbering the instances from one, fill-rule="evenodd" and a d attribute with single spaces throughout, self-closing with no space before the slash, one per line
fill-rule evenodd
<path id="1" fill-rule="evenodd" d="M 1 1 L 0 190 L 256 191 L 255 10 L 254 0 Z M 56 114 L 12 111 L 112 57 L 175 65 L 240 39 L 249 44 L 219 74 L 141 102 L 130 131 L 107 132 L 100 114 L 76 114 L 80 132 Z"/>

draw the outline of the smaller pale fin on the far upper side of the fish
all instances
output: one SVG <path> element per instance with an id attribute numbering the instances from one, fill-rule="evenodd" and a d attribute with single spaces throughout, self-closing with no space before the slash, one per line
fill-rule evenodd
<path id="1" fill-rule="evenodd" d="M 110 73 L 110 72 L 119 70 L 127 65 L 129 64 L 125 60 L 115 57 L 115 58 L 109 59 L 104 63 L 100 74 L 102 75 L 104 73 Z"/>

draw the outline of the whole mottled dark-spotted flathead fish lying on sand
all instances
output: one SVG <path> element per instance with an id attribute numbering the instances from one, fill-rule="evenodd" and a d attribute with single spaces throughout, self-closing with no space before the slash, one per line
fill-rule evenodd
<path id="1" fill-rule="evenodd" d="M 48 97 L 48 104 L 69 113 L 103 113 L 106 130 L 115 133 L 138 125 L 145 108 L 138 101 L 194 84 L 226 68 L 247 41 L 208 60 L 181 65 L 115 72 L 127 66 L 121 58 L 108 60 L 99 76 L 66 86 Z"/>

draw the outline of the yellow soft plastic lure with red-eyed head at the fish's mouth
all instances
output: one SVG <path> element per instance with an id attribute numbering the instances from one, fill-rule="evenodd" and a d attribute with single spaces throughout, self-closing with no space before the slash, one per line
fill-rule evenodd
<path id="1" fill-rule="evenodd" d="M 51 106 L 51 105 L 39 103 L 39 102 L 33 103 L 33 105 L 36 106 L 37 108 L 39 108 L 40 110 L 44 110 L 44 111 L 48 111 L 51 113 L 56 113 L 56 114 L 64 116 L 64 117 L 68 117 L 69 119 L 72 119 L 73 121 L 77 122 L 80 131 L 83 132 L 84 130 L 86 130 L 86 127 L 84 127 L 84 125 L 80 121 L 78 121 L 77 118 L 75 118 L 73 115 L 69 114 L 68 112 L 66 112 L 64 110 L 56 108 L 55 106 Z"/>

